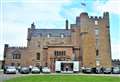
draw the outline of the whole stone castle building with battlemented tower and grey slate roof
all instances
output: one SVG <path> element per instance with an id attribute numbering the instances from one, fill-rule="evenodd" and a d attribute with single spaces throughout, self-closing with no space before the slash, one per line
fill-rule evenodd
<path id="1" fill-rule="evenodd" d="M 79 61 L 83 67 L 111 67 L 109 13 L 90 17 L 83 12 L 65 29 L 28 28 L 27 47 L 4 47 L 4 65 L 48 66 L 55 61 Z"/>

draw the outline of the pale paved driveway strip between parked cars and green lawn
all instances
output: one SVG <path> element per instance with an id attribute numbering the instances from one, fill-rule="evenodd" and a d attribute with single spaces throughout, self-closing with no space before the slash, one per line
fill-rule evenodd
<path id="1" fill-rule="evenodd" d="M 29 76 L 29 75 L 92 75 L 92 76 L 112 76 L 112 77 L 120 77 L 120 74 L 83 74 L 83 73 L 69 73 L 69 74 L 65 74 L 65 73 L 50 73 L 50 74 L 44 74 L 44 73 L 40 73 L 40 74 L 3 74 L 3 71 L 0 71 L 0 82 L 3 82 L 4 80 L 7 79 L 12 79 L 15 77 L 21 77 L 21 76 Z"/>

